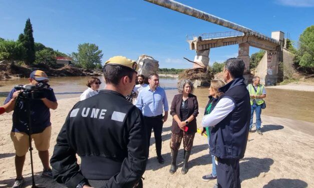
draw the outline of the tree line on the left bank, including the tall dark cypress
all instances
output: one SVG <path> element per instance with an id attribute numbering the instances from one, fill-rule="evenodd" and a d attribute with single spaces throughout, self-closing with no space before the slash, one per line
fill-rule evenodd
<path id="1" fill-rule="evenodd" d="M 19 39 L 7 40 L 0 37 L 0 60 L 18 61 L 19 64 L 49 66 L 57 65 L 57 57 L 72 59 L 77 67 L 86 69 L 101 68 L 102 50 L 93 43 L 78 45 L 78 51 L 66 54 L 40 42 L 35 42 L 30 18 L 26 20 L 24 32 Z"/>

